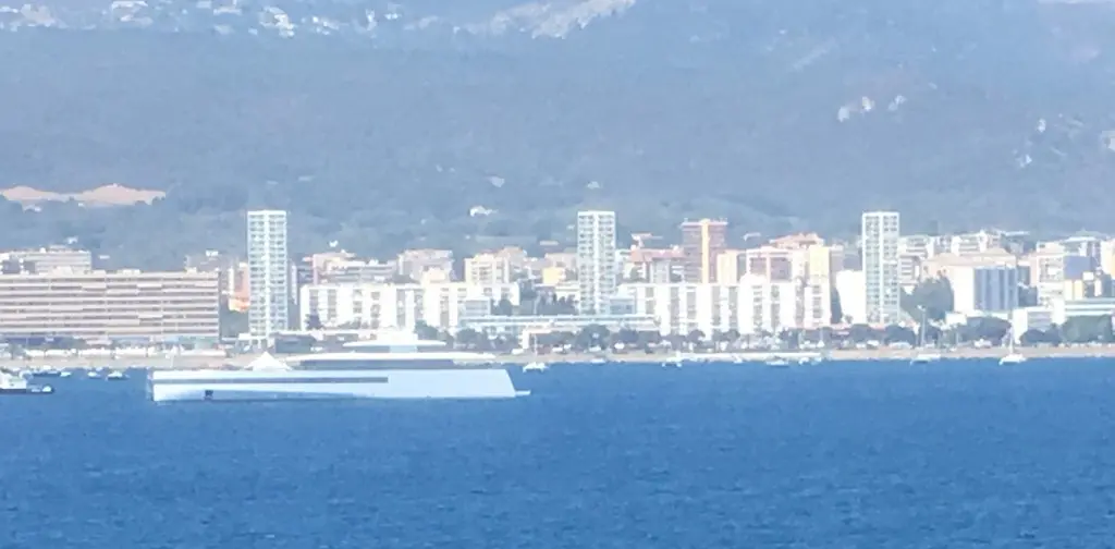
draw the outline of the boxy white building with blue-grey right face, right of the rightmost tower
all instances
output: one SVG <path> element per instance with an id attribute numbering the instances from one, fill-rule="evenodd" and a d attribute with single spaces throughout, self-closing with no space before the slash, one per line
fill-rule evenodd
<path id="1" fill-rule="evenodd" d="M 1018 308 L 1018 268 L 954 266 L 948 269 L 952 310 L 969 316 Z"/>

